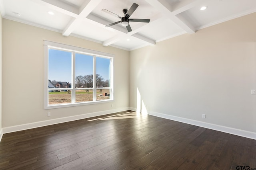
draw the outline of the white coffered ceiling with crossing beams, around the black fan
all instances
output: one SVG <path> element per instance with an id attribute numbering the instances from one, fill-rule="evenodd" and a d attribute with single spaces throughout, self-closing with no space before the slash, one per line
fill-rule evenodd
<path id="1" fill-rule="evenodd" d="M 138 4 L 128 32 L 106 9 L 123 17 Z M 200 10 L 206 6 L 206 10 Z M 128 51 L 256 12 L 256 0 L 0 0 L 3 18 L 58 31 Z M 48 12 L 52 12 L 53 15 Z"/>

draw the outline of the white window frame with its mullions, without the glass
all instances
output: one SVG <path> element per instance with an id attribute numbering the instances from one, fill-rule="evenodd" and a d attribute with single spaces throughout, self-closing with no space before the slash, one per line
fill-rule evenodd
<path id="1" fill-rule="evenodd" d="M 72 91 L 71 103 L 54 104 L 54 105 L 48 104 L 48 100 L 49 100 L 48 99 L 48 93 L 49 93 L 49 88 L 48 88 L 48 51 L 49 51 L 49 48 L 72 52 L 72 87 L 71 88 L 58 88 L 58 90 L 71 90 Z M 76 84 L 76 81 L 75 81 L 75 53 L 92 55 L 94 57 L 94 60 L 93 60 L 94 61 L 94 63 L 93 63 L 94 64 L 94 66 L 93 66 L 93 74 L 94 74 L 93 75 L 93 88 L 90 88 L 93 90 L 93 101 L 76 102 L 76 89 L 83 90 L 83 89 L 88 89 L 88 88 L 76 88 L 76 86 L 75 86 L 75 84 Z M 96 88 L 96 80 L 95 80 L 96 57 L 110 59 L 110 87 L 108 87 L 108 88 Z M 54 108 L 61 108 L 61 107 L 72 107 L 72 106 L 82 106 L 82 105 L 89 105 L 89 104 L 101 104 L 101 103 L 106 103 L 106 102 L 113 102 L 113 100 L 114 100 L 114 58 L 115 58 L 115 55 L 113 55 L 113 54 L 44 40 L 44 109 L 54 109 Z M 97 89 L 110 89 L 110 99 L 96 100 L 96 90 Z"/>

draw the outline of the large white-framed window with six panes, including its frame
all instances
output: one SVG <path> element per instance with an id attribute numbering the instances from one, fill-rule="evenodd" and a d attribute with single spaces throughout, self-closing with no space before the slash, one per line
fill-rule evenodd
<path id="1" fill-rule="evenodd" d="M 113 100 L 114 55 L 44 41 L 45 109 Z"/>

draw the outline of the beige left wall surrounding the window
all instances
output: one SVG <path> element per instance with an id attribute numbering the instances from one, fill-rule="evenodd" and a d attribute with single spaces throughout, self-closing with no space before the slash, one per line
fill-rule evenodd
<path id="1" fill-rule="evenodd" d="M 114 102 L 44 110 L 44 40 L 114 54 Z M 128 51 L 6 19 L 3 42 L 3 127 L 129 107 Z"/>

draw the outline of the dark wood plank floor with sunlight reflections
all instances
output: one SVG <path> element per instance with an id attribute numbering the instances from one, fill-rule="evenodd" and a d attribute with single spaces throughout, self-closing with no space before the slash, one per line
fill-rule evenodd
<path id="1" fill-rule="evenodd" d="M 0 143 L 1 170 L 237 166 L 256 170 L 256 140 L 133 111 L 8 133 Z"/>

